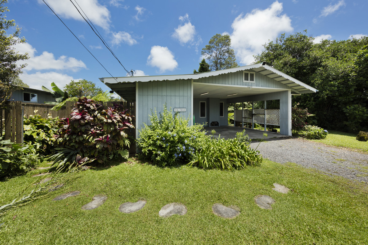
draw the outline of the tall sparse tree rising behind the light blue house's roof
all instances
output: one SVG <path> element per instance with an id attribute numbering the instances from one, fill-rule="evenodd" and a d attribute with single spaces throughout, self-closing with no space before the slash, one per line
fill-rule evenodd
<path id="1" fill-rule="evenodd" d="M 238 67 L 229 35 L 216 34 L 202 48 L 201 54 L 209 61 L 210 71 Z"/>

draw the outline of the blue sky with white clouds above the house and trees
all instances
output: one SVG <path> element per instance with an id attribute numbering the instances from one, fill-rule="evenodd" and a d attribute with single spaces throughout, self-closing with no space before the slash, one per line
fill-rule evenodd
<path id="1" fill-rule="evenodd" d="M 45 0 L 114 77 L 126 72 L 82 19 L 70 0 Z M 368 35 L 367 0 L 130 1 L 78 3 L 127 70 L 136 75 L 188 74 L 198 69 L 201 49 L 216 33 L 231 36 L 239 65 L 252 62 L 262 44 L 308 30 L 321 39 Z M 77 4 L 75 4 L 77 5 Z M 77 5 L 77 6 L 78 6 Z M 109 73 L 88 53 L 42 0 L 10 0 L 7 19 L 22 28 L 26 44 L 16 49 L 30 59 L 20 78 L 30 87 L 59 87 Z"/>

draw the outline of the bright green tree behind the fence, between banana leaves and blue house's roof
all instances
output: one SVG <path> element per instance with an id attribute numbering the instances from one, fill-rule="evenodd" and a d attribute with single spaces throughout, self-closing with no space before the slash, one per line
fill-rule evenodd
<path id="1" fill-rule="evenodd" d="M 79 80 L 78 82 L 71 80 L 70 83 L 64 86 L 64 90 L 68 93 L 69 97 L 78 98 L 87 96 L 93 97 L 103 93 L 103 90 L 100 87 L 96 87 L 95 83 L 85 79 Z"/>

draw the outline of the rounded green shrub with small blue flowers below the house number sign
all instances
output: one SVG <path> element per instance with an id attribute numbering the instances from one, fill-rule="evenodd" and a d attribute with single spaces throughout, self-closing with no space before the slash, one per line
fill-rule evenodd
<path id="1" fill-rule="evenodd" d="M 166 105 L 159 116 L 156 110 L 152 112 L 150 120 L 151 125 L 144 124 L 144 128 L 139 130 L 137 145 L 141 151 L 139 155 L 156 165 L 187 163 L 206 141 L 203 125 L 188 126 L 189 118 L 185 119 L 178 113 L 173 116 Z"/>

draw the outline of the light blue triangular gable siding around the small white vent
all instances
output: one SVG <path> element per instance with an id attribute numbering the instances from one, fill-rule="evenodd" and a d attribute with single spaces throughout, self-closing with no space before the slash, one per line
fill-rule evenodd
<path id="1" fill-rule="evenodd" d="M 246 70 L 251 71 L 252 70 Z M 255 72 L 255 82 L 247 83 L 243 82 L 243 71 L 231 72 L 226 74 L 220 74 L 218 76 L 210 76 L 208 78 L 194 79 L 193 82 L 197 83 L 215 83 L 215 84 L 230 84 L 236 86 L 254 86 L 254 87 L 269 87 L 277 89 L 290 89 L 286 86 L 268 76 L 262 75 L 261 73 Z"/>

